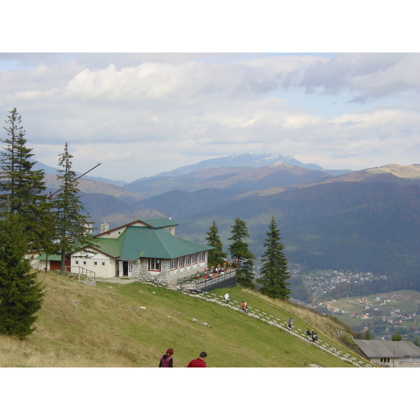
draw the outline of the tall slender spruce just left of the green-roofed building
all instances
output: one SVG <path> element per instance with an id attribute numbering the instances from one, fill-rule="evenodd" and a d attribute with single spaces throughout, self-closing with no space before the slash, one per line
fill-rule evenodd
<path id="1" fill-rule="evenodd" d="M 76 172 L 71 169 L 72 155 L 68 145 L 64 147 L 64 153 L 59 154 L 59 193 L 55 195 L 53 207 L 57 215 L 58 246 L 61 254 L 60 274 L 65 273 L 66 253 L 76 251 L 84 246 L 92 246 L 94 239 L 91 237 L 91 225 L 87 216 L 83 215 L 85 208 L 80 201 Z"/>

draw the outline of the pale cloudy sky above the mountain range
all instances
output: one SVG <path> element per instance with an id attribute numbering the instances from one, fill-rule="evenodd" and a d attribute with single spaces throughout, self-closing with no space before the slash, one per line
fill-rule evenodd
<path id="1" fill-rule="evenodd" d="M 395 32 L 385 46 L 365 32 L 356 42 L 332 43 L 331 34 L 325 42 L 328 31 L 318 39 L 311 32 L 318 22 L 305 22 L 297 43 L 258 45 L 239 24 L 248 34 L 242 43 L 223 27 L 226 38 L 214 43 L 184 47 L 186 32 L 172 31 L 146 48 L 139 40 L 151 38 L 152 25 L 120 51 L 112 31 L 98 43 L 90 32 L 81 36 L 86 43 L 69 36 L 54 43 L 49 33 L 45 45 L 12 44 L 0 52 L 0 118 L 16 107 L 43 164 L 56 167 L 67 142 L 73 169 L 101 162 L 90 175 L 127 182 L 239 153 L 280 153 L 324 169 L 420 163 L 419 52 L 399 52 L 406 44 Z M 265 31 L 265 22 L 257 28 Z M 295 27 L 281 28 L 267 31 L 296 38 Z M 34 38 L 45 41 L 38 31 Z"/>

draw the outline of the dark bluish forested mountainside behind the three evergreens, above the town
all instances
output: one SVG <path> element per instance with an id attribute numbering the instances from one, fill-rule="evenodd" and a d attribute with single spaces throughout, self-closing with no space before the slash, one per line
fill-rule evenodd
<path id="1" fill-rule="evenodd" d="M 179 235 L 197 241 L 204 241 L 212 220 L 226 240 L 230 225 L 239 217 L 248 225 L 255 255 L 262 254 L 269 218 L 274 216 L 285 253 L 293 262 L 318 269 L 386 274 L 416 286 L 420 283 L 419 193 L 418 186 L 393 183 L 323 183 L 234 200 L 217 191 L 190 193 L 188 202 L 200 202 L 200 208 L 188 207 L 186 200 L 178 202 L 174 196 L 170 204 L 165 203 L 165 195 L 148 203 L 162 213 L 174 214 L 180 222 Z"/>

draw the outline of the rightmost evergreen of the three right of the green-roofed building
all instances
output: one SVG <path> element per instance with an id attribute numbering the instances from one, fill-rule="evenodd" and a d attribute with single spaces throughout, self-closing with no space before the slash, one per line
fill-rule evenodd
<path id="1" fill-rule="evenodd" d="M 288 272 L 287 260 L 283 254 L 283 244 L 280 241 L 280 232 L 277 228 L 274 217 L 269 223 L 269 232 L 264 241 L 265 253 L 262 255 L 261 293 L 269 297 L 288 299 L 290 289 L 287 283 L 290 274 Z"/>

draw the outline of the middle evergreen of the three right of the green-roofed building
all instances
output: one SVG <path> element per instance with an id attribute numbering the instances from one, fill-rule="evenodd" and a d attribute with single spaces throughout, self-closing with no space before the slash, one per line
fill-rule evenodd
<path id="1" fill-rule="evenodd" d="M 254 272 L 253 267 L 255 257 L 249 251 L 248 244 L 244 239 L 250 237 L 246 223 L 240 218 L 235 219 L 235 225 L 231 226 L 229 241 L 233 241 L 228 250 L 232 258 L 237 259 L 239 266 L 237 269 L 237 281 L 245 287 L 253 287 Z"/>

